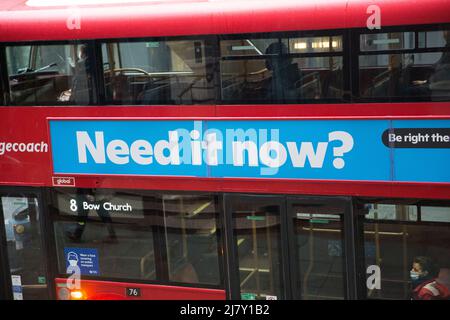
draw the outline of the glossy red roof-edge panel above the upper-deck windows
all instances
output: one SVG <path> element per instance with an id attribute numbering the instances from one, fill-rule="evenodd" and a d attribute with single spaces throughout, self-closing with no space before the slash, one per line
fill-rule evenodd
<path id="1" fill-rule="evenodd" d="M 0 41 L 356 28 L 366 27 L 372 4 L 381 9 L 382 26 L 450 22 L 449 0 L 160 1 L 79 8 L 30 8 L 16 0 L 0 4 Z"/>

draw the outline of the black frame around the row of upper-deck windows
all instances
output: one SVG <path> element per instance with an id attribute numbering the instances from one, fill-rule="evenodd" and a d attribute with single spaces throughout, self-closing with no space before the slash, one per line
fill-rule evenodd
<path id="1" fill-rule="evenodd" d="M 448 47 L 433 47 L 433 48 L 418 48 L 419 32 L 427 31 L 442 31 L 450 30 L 450 23 L 441 24 L 426 24 L 426 25 L 402 25 L 402 26 L 387 26 L 382 29 L 369 30 L 366 28 L 353 28 L 353 29 L 330 29 L 330 30 L 297 30 L 297 31 L 280 31 L 280 32 L 266 32 L 266 33 L 242 33 L 242 34 L 205 34 L 205 35 L 189 35 L 189 36 L 164 36 L 164 37 L 139 37 L 139 38 L 99 38 L 95 40 L 91 39 L 77 39 L 77 40 L 58 40 L 58 41 L 30 41 L 30 42 L 1 42 L 0 43 L 0 78 L 3 89 L 3 96 L 0 98 L 0 105 L 8 107 L 22 107 L 22 106 L 35 106 L 34 104 L 12 104 L 10 99 L 10 87 L 9 87 L 9 75 L 7 72 L 6 63 L 6 46 L 25 46 L 25 45 L 67 45 L 67 44 L 79 44 L 86 43 L 93 48 L 94 55 L 94 83 L 96 85 L 94 94 L 96 100 L 89 106 L 128 106 L 123 103 L 113 103 L 107 101 L 104 87 L 104 74 L 103 74 L 103 57 L 102 57 L 102 45 L 111 42 L 142 42 L 142 41 L 182 41 L 182 40 L 203 40 L 211 43 L 211 55 L 205 53 L 204 58 L 212 59 L 212 71 L 214 75 L 214 92 L 215 100 L 213 105 L 270 105 L 270 104 L 342 104 L 342 103 L 394 103 L 394 102 L 434 102 L 429 97 L 362 97 L 359 92 L 360 79 L 359 79 L 359 57 L 370 56 L 379 54 L 404 54 L 404 53 L 432 53 L 432 52 L 448 52 Z M 402 50 L 374 50 L 361 52 L 360 50 L 360 35 L 361 34 L 375 34 L 375 33 L 390 33 L 390 32 L 415 32 L 415 47 L 414 49 L 402 49 Z M 228 101 L 223 100 L 221 93 L 221 70 L 220 63 L 222 58 L 220 56 L 220 41 L 221 40 L 239 40 L 243 38 L 291 38 L 291 37 L 320 37 L 320 36 L 342 36 L 342 51 L 340 52 L 317 52 L 317 53 L 295 53 L 289 54 L 292 57 L 327 57 L 327 56 L 342 56 L 342 99 L 305 99 L 296 101 Z M 250 56 L 241 56 L 241 58 L 247 58 Z M 358 59 L 354 59 L 358 57 Z M 227 58 L 228 59 L 228 58 Z M 231 58 L 238 59 L 238 58 Z M 1 88 L 0 88 L 1 92 Z M 442 100 L 450 101 L 450 100 Z M 54 104 L 46 104 L 40 106 L 52 106 Z M 134 104 L 131 106 L 161 106 L 161 104 L 151 105 L 139 105 Z M 162 106 L 170 106 L 173 104 L 162 104 Z M 205 104 L 176 104 L 177 106 L 202 106 Z M 206 104 L 209 105 L 209 104 Z M 78 105 L 63 104 L 57 105 L 58 107 L 76 107 Z"/>

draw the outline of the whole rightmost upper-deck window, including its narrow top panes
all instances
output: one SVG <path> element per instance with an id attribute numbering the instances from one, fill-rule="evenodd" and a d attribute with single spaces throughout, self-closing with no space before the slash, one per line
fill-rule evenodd
<path id="1" fill-rule="evenodd" d="M 363 98 L 448 101 L 450 30 L 361 34 L 359 84 Z"/>

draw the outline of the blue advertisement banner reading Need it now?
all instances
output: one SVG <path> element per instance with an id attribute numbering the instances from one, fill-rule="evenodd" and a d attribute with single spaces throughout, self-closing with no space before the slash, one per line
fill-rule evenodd
<path id="1" fill-rule="evenodd" d="M 50 120 L 57 174 L 450 182 L 450 120 Z"/>

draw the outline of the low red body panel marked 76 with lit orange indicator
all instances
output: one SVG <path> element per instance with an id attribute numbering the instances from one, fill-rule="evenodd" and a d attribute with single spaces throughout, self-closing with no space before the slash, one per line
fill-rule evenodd
<path id="1" fill-rule="evenodd" d="M 65 290 L 67 279 L 57 278 L 56 296 Z M 113 281 L 81 280 L 87 300 L 225 300 L 225 290 Z M 139 297 L 127 297 L 127 288 L 139 288 Z"/>

